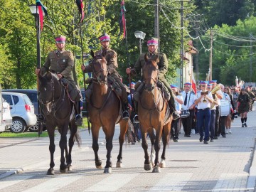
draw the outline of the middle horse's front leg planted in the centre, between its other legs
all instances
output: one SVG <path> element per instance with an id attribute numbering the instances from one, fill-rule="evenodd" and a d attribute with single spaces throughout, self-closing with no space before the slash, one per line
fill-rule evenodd
<path id="1" fill-rule="evenodd" d="M 104 169 L 105 174 L 110 174 L 112 172 L 112 161 L 111 161 L 111 151 L 113 149 L 113 137 L 114 137 L 114 124 L 110 124 L 107 127 L 102 127 L 106 135 L 106 149 L 107 149 L 107 161 Z"/>

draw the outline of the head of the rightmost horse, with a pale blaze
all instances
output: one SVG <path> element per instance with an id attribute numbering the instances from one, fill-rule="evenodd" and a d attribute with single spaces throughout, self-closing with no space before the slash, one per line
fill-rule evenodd
<path id="1" fill-rule="evenodd" d="M 158 79 L 159 68 L 157 63 L 159 62 L 159 58 L 152 60 L 145 54 L 144 60 L 145 65 L 142 68 L 142 73 L 144 76 L 145 90 L 151 92 L 154 90 Z"/>

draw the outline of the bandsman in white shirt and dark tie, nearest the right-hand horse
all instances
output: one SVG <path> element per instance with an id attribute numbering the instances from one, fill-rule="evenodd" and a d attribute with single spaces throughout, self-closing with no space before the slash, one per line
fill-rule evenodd
<path id="1" fill-rule="evenodd" d="M 186 118 L 181 118 L 181 122 L 183 125 L 183 129 L 185 132 L 185 137 L 191 137 L 191 128 L 193 123 L 193 117 L 195 115 L 195 109 L 192 107 L 194 100 L 195 100 L 195 94 L 191 92 L 191 83 L 186 82 L 184 83 L 184 91 L 181 92 L 181 95 L 183 97 L 183 105 L 181 105 L 182 110 L 189 110 L 189 116 Z"/>

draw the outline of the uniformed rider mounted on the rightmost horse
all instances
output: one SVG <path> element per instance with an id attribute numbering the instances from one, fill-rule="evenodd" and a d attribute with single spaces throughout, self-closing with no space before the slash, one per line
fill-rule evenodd
<path id="1" fill-rule="evenodd" d="M 132 73 L 132 75 L 140 75 L 141 74 L 141 69 L 143 68 L 145 64 L 144 60 L 144 55 L 147 54 L 149 58 L 155 59 L 156 57 L 159 58 L 159 63 L 157 65 L 159 66 L 159 82 L 160 84 L 164 84 L 162 87 L 164 89 L 167 89 L 169 93 L 171 94 L 171 98 L 169 100 L 169 107 L 172 111 L 174 119 L 178 119 L 180 116 L 178 112 L 176 111 L 176 105 L 175 105 L 175 95 L 174 92 L 171 90 L 171 87 L 169 86 L 169 83 L 167 80 L 164 78 L 164 75 L 166 74 L 168 70 L 168 60 L 166 58 L 166 54 L 164 53 L 159 53 L 157 48 L 158 48 L 158 38 L 150 38 L 149 41 L 147 41 L 147 46 L 148 46 L 148 53 L 142 53 L 139 55 L 139 58 L 137 62 L 134 65 L 134 68 L 127 68 L 126 73 Z M 159 83 L 158 83 L 159 84 Z M 137 105 L 137 102 L 134 102 L 135 105 Z M 134 106 L 135 113 L 137 113 L 137 106 Z M 135 115 L 134 117 L 135 122 L 139 122 L 138 116 Z"/>

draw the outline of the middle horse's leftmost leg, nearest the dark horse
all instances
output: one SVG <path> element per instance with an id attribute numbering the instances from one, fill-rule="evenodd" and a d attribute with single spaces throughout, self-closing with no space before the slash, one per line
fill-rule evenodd
<path id="1" fill-rule="evenodd" d="M 96 126 L 94 123 L 92 123 L 92 149 L 95 153 L 95 166 L 96 166 L 97 169 L 102 169 L 102 161 L 100 160 L 100 158 L 98 156 L 99 131 L 100 131 L 100 126 Z"/>

